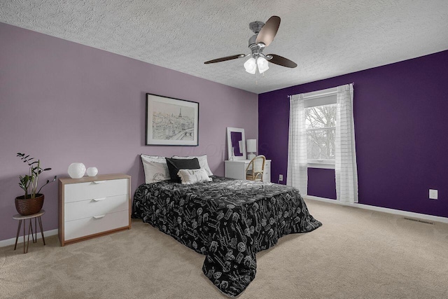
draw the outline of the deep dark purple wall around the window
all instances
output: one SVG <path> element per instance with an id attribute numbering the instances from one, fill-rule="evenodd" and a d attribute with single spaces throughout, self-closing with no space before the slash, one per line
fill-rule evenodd
<path id="1" fill-rule="evenodd" d="M 286 182 L 288 95 L 352 82 L 359 202 L 448 217 L 448 50 L 259 95 L 260 153 L 272 177 Z M 334 171 L 314 172 L 309 195 L 328 194 Z"/>

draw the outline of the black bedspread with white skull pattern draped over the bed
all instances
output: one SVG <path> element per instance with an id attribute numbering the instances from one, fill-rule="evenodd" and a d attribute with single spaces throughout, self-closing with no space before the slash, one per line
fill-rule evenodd
<path id="1" fill-rule="evenodd" d="M 193 185 L 142 184 L 134 195 L 132 218 L 206 255 L 204 274 L 225 295 L 236 297 L 255 278 L 255 253 L 283 235 L 310 232 L 322 223 L 293 187 L 211 177 L 211 182 Z"/>

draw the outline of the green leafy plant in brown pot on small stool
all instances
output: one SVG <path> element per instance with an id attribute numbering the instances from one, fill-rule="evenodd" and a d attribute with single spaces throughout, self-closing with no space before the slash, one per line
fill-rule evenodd
<path id="1" fill-rule="evenodd" d="M 39 175 L 42 172 L 51 170 L 51 168 L 41 168 L 41 160 L 29 158 L 29 155 L 25 155 L 25 153 L 17 153 L 17 156 L 23 162 L 27 163 L 29 172 L 28 174 L 25 174 L 25 176 L 19 176 L 19 186 L 25 191 L 25 195 L 15 197 L 15 209 L 17 209 L 19 214 L 24 216 L 36 214 L 38 211 L 41 211 L 43 206 L 44 196 L 41 194 L 43 186 L 56 181 L 56 176 L 53 177 L 52 181 L 47 180 L 47 182 L 37 190 Z"/>

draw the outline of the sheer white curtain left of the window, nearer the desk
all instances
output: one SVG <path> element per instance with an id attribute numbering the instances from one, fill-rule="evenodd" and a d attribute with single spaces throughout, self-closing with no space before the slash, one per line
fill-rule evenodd
<path id="1" fill-rule="evenodd" d="M 290 96 L 288 172 L 286 184 L 308 193 L 307 171 L 307 131 L 305 129 L 305 110 L 303 95 Z"/>

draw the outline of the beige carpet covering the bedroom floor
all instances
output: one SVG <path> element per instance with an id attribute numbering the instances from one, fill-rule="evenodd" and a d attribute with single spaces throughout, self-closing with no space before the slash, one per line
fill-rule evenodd
<path id="1" fill-rule="evenodd" d="M 239 298 L 448 298 L 448 225 L 307 201 L 323 227 L 257 254 Z M 43 218 L 45 225 L 45 219 Z M 0 248 L 1 298 L 225 298 L 204 256 L 151 225 L 23 254 Z"/>

